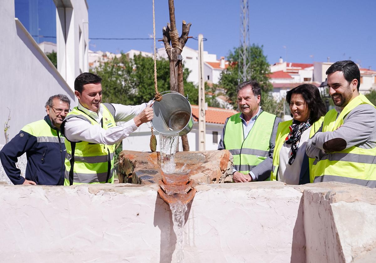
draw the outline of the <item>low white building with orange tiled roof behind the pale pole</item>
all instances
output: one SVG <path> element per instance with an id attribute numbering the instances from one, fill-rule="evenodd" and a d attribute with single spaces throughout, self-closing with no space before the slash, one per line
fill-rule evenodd
<path id="1" fill-rule="evenodd" d="M 198 151 L 199 149 L 199 126 L 198 114 L 199 106 L 192 106 L 192 116 L 194 119 L 193 128 L 187 134 L 190 151 Z M 221 139 L 224 122 L 229 116 L 238 113 L 235 110 L 220 109 L 208 107 L 206 110 L 206 134 L 205 134 L 205 150 L 217 150 L 218 143 Z M 123 150 L 131 151 L 150 151 L 150 122 L 141 124 L 136 131 L 123 140 Z M 159 151 L 159 136 L 154 131 L 157 138 L 157 151 Z M 179 139 L 179 151 L 182 151 L 181 140 Z"/>

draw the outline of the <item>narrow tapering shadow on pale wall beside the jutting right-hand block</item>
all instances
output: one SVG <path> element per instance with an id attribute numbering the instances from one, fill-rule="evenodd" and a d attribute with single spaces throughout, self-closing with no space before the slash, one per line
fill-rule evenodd
<path id="1" fill-rule="evenodd" d="M 290 263 L 305 263 L 305 234 L 304 234 L 304 219 L 303 198 L 300 198 L 298 214 L 296 216 L 295 226 L 293 230 L 293 241 L 291 245 L 291 261 Z"/>

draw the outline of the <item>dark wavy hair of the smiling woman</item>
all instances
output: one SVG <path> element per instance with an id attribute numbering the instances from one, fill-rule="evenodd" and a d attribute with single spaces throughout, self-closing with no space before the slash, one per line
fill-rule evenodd
<path id="1" fill-rule="evenodd" d="M 293 94 L 301 94 L 305 103 L 310 110 L 309 118 L 311 119 L 311 124 L 318 121 L 321 116 L 324 116 L 326 113 L 326 107 L 321 100 L 320 91 L 315 85 L 312 84 L 303 84 L 299 85 L 296 88 L 291 89 L 286 93 L 286 101 L 288 104 L 291 102 L 291 96 Z M 291 114 L 291 117 L 293 115 Z"/>

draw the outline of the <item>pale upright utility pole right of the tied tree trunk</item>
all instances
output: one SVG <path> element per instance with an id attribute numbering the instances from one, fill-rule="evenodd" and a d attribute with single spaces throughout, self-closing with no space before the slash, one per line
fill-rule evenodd
<path id="1" fill-rule="evenodd" d="M 204 75 L 204 38 L 199 34 L 199 151 L 205 151 L 205 80 Z"/>

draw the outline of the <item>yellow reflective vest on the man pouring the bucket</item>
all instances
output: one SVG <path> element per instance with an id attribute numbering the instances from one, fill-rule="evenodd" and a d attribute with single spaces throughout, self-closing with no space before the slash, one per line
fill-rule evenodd
<path id="1" fill-rule="evenodd" d="M 70 118 L 81 118 L 92 125 L 101 125 L 102 128 L 115 127 L 115 119 L 104 104 L 101 123 L 92 119 L 82 110 L 74 107 L 67 114 L 62 124 L 64 134 L 65 122 Z M 115 145 L 96 144 L 91 142 L 70 142 L 65 140 L 65 178 L 64 185 L 95 184 L 114 182 L 114 152 Z"/>

